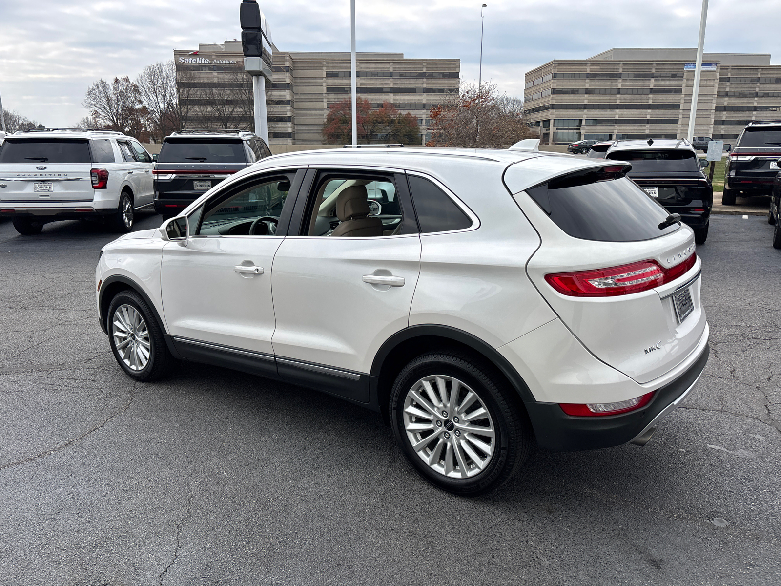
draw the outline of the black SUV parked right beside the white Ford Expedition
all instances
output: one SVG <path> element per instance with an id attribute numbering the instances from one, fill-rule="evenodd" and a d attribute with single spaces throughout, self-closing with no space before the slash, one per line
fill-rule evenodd
<path id="1" fill-rule="evenodd" d="M 155 212 L 178 216 L 202 193 L 255 161 L 271 156 L 262 138 L 245 130 L 181 130 L 162 141 L 155 170 Z"/>

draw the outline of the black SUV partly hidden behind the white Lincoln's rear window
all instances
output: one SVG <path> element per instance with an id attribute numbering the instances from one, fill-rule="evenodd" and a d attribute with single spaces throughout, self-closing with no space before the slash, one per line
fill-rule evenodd
<path id="1" fill-rule="evenodd" d="M 702 169 L 708 161 L 684 139 L 615 141 L 605 159 L 632 163 L 630 177 L 669 213 L 694 230 L 698 245 L 708 239 L 713 186 Z"/>

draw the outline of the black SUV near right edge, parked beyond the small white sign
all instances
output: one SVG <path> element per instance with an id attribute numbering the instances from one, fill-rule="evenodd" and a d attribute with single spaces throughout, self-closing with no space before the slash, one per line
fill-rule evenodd
<path id="1" fill-rule="evenodd" d="M 781 120 L 749 123 L 727 157 L 722 204 L 735 205 L 737 195 L 770 195 L 779 157 Z"/>

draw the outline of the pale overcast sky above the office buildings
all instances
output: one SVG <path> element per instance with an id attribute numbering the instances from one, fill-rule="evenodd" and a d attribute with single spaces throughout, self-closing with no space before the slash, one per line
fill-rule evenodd
<path id="1" fill-rule="evenodd" d="M 480 5 L 357 0 L 358 51 L 461 59 L 476 80 Z M 694 47 L 700 0 L 487 0 L 483 79 L 522 95 L 527 70 L 612 47 Z M 177 49 L 240 38 L 238 0 L 0 0 L 0 96 L 47 126 L 76 123 L 92 81 L 127 75 Z M 268 0 L 283 51 L 349 51 L 348 0 Z M 771 53 L 781 63 L 779 0 L 711 0 L 706 52 Z"/>

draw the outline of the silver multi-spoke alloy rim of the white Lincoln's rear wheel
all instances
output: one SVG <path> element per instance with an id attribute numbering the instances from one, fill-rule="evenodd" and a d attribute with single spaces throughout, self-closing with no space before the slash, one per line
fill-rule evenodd
<path id="1" fill-rule="evenodd" d="M 473 477 L 494 457 L 494 421 L 480 396 L 454 377 L 436 374 L 413 384 L 404 427 L 415 453 L 443 476 Z"/>

